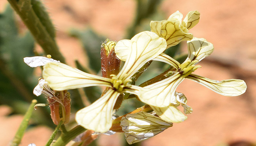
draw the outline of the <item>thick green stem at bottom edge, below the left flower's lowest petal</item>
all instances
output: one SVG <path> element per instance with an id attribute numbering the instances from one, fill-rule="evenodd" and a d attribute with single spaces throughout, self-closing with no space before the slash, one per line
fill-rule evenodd
<path id="1" fill-rule="evenodd" d="M 65 146 L 69 141 L 76 138 L 79 134 L 84 132 L 86 129 L 82 126 L 78 125 L 72 130 L 62 133 L 56 142 L 53 143 L 52 146 Z"/>

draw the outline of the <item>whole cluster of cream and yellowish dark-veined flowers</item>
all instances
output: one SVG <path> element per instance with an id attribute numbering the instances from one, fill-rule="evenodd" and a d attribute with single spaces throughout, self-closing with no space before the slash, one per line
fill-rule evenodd
<path id="1" fill-rule="evenodd" d="M 139 112 L 125 115 L 120 120 L 128 143 L 152 137 L 171 127 L 173 122 L 187 119 L 177 107 L 181 105 L 185 114 L 191 114 L 192 108 L 187 105 L 185 95 L 176 92 L 177 86 L 186 78 L 224 96 L 244 93 L 246 84 L 242 80 L 216 81 L 193 74 L 201 67 L 197 65 L 198 62 L 210 55 L 214 47 L 206 39 L 195 38 L 188 32 L 199 22 L 199 12 L 189 12 L 184 20 L 182 17 L 177 11 L 167 20 L 151 21 L 151 31 L 143 31 L 130 40 L 113 43 L 111 48 L 114 48 L 117 58 L 125 61 L 125 64 L 119 73 L 108 75 L 109 78 L 85 73 L 56 61 L 44 65 L 43 78 L 55 91 L 90 86 L 108 87 L 97 101 L 76 112 L 76 122 L 96 132 L 104 133 L 112 127 L 113 108 L 118 96 L 123 93 L 134 94 L 140 101 L 150 105 L 154 114 Z M 187 41 L 188 46 L 188 57 L 182 64 L 163 53 L 181 41 Z M 145 87 L 133 85 L 131 77 L 152 60 L 173 66 L 172 74 Z"/>

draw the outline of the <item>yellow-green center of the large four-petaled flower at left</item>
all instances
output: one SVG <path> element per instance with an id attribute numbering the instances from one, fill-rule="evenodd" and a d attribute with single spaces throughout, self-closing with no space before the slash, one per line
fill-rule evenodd
<path id="1" fill-rule="evenodd" d="M 120 80 L 114 74 L 111 74 L 110 77 L 112 77 L 111 78 L 112 87 L 117 92 L 123 92 L 124 87 L 127 87 L 129 85 L 128 83 L 132 81 L 131 79 L 127 79 L 127 80 L 124 80 L 124 81 Z"/>

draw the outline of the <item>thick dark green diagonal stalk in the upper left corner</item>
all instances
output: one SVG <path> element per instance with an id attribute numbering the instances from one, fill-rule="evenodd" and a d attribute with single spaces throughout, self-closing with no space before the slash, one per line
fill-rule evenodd
<path id="1" fill-rule="evenodd" d="M 65 63 L 63 55 L 54 40 L 55 32 L 45 8 L 36 0 L 8 0 L 12 8 L 23 20 L 24 24 L 30 30 L 34 39 L 44 49 L 46 54 L 52 55 L 52 58 Z"/>

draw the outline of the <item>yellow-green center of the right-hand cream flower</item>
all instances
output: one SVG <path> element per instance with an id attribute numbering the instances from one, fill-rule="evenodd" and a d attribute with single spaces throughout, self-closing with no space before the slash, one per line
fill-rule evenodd
<path id="1" fill-rule="evenodd" d="M 201 68 L 200 65 L 195 65 L 198 60 L 188 60 L 180 65 L 178 72 L 181 74 L 182 77 L 187 77 L 189 74 L 194 72 L 197 68 Z"/>

